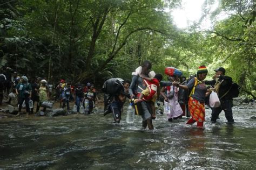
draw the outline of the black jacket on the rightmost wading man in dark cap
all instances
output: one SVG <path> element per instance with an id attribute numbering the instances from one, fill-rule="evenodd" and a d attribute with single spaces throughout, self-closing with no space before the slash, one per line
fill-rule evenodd
<path id="1" fill-rule="evenodd" d="M 221 98 L 228 90 L 230 90 L 231 86 L 232 86 L 232 78 L 229 76 L 224 76 L 224 75 L 220 75 L 219 77 L 219 82 L 221 82 L 223 80 L 223 82 L 220 84 L 220 88 L 219 88 L 219 92 L 218 92 L 218 96 Z M 216 83 L 216 80 L 211 80 L 211 81 L 205 81 L 205 84 L 207 85 L 214 85 Z M 232 99 L 231 97 L 231 93 L 232 91 L 228 91 L 228 93 L 221 98 L 221 100 L 225 100 L 225 99 Z"/>

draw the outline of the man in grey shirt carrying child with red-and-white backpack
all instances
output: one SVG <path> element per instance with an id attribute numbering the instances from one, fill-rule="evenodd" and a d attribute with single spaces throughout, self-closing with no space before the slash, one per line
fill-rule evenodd
<path id="1" fill-rule="evenodd" d="M 139 74 L 150 77 L 150 69 L 152 65 L 151 62 L 148 60 L 145 60 L 142 64 L 141 69 L 138 69 L 138 72 L 132 73 L 132 81 L 131 86 L 129 88 L 129 94 L 131 98 L 138 98 L 139 95 L 142 93 L 142 91 L 147 87 L 146 84 L 143 82 L 142 77 L 139 76 Z M 136 69 L 137 70 L 137 69 Z M 171 86 L 171 82 L 160 82 L 160 86 Z M 154 126 L 152 124 L 152 109 L 151 109 L 151 101 L 142 101 L 142 127 L 145 129 L 148 127 L 149 129 L 154 129 Z"/>

